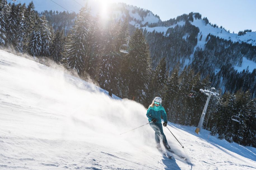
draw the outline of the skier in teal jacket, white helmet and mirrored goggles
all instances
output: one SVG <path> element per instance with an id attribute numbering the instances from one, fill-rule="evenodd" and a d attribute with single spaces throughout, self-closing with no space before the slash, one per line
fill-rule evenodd
<path id="1" fill-rule="evenodd" d="M 164 146 L 166 149 L 170 149 L 170 146 L 168 145 L 168 142 L 166 140 L 165 134 L 163 132 L 163 127 L 161 124 L 161 115 L 163 116 L 164 123 L 163 126 L 167 126 L 167 116 L 165 112 L 165 108 L 161 105 L 162 99 L 160 97 L 154 98 L 151 105 L 149 105 L 149 108 L 147 109 L 147 117 L 149 118 L 149 122 L 152 121 L 151 124 L 149 124 L 152 129 L 155 131 L 155 140 L 157 144 L 157 148 L 161 148 L 160 146 L 160 137 L 163 141 Z"/>

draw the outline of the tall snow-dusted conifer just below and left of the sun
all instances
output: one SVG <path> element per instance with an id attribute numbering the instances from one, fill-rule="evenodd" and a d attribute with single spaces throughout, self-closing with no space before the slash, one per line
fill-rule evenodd
<path id="1" fill-rule="evenodd" d="M 67 36 L 67 43 L 64 47 L 64 58 L 62 62 L 68 69 L 74 69 L 79 75 L 87 70 L 85 63 L 88 62 L 88 33 L 91 27 L 89 9 L 83 7 L 75 25 L 71 29 L 71 34 Z"/>

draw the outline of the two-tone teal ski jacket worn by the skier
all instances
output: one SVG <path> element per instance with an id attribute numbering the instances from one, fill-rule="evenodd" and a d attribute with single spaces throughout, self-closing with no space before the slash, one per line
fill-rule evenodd
<path id="1" fill-rule="evenodd" d="M 155 118 L 157 120 L 156 123 L 161 123 L 161 115 L 163 116 L 164 122 L 167 122 L 165 108 L 161 105 L 158 107 L 156 107 L 155 105 L 153 107 L 149 107 L 149 109 L 147 109 L 146 115 L 149 118 L 149 122 L 151 122 L 151 120 Z"/>

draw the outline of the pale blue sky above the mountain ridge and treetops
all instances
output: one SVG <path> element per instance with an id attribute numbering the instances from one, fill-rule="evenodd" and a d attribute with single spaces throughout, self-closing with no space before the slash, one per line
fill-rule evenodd
<path id="1" fill-rule="evenodd" d="M 8 0 L 10 2 L 11 0 Z M 21 3 L 28 4 L 31 0 L 17 0 Z M 68 10 L 76 11 L 75 8 L 81 8 L 80 4 L 84 4 L 86 0 L 53 0 L 61 4 Z M 93 1 L 93 0 L 92 0 Z M 160 16 L 165 21 L 170 18 L 176 18 L 184 13 L 198 12 L 202 17 L 223 26 L 232 33 L 238 33 L 239 30 L 252 29 L 256 31 L 256 0 L 99 0 L 108 2 L 123 2 L 135 5 L 140 8 L 149 9 L 154 14 Z M 64 10 L 51 0 L 34 0 L 36 9 L 42 11 Z"/>

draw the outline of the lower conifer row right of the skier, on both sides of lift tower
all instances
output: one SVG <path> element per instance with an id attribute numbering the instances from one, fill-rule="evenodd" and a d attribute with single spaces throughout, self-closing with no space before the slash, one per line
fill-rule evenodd
<path id="1" fill-rule="evenodd" d="M 210 77 L 201 80 L 201 73 L 195 74 L 190 66 L 180 74 L 178 65 L 170 75 L 166 70 L 166 59 L 163 58 L 152 72 L 147 103 L 154 96 L 161 96 L 168 121 L 197 126 L 207 98 L 199 89 L 211 85 Z M 189 97 L 190 91 L 197 92 L 197 96 Z M 226 92 L 220 99 L 211 98 L 203 128 L 210 130 L 212 135 L 218 134 L 219 139 L 256 147 L 255 113 L 256 99 L 252 99 L 248 90 L 240 89 L 235 94 Z M 238 116 L 240 123 L 232 120 L 232 116 Z"/>

